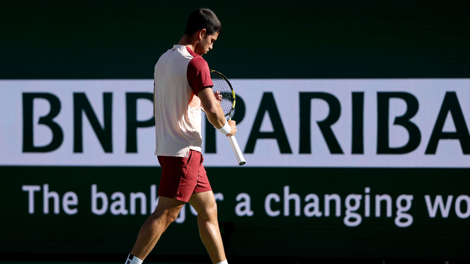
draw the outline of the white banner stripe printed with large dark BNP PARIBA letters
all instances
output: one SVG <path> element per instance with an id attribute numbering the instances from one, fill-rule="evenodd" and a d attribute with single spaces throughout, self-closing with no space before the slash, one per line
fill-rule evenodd
<path id="1" fill-rule="evenodd" d="M 468 142 L 470 128 L 470 79 L 230 79 L 230 82 L 237 94 L 236 138 L 247 162 L 245 166 L 470 167 L 470 153 L 466 152 L 470 146 L 462 146 Z M 132 110 L 128 107 L 133 104 L 126 102 L 128 93 L 152 91 L 153 80 L 1 80 L 0 165 L 158 166 L 153 155 L 155 127 L 136 128 L 132 122 L 135 119 L 137 125 L 142 125 L 152 118 L 152 103 L 146 98 L 134 100 L 136 109 Z M 41 98 L 40 93 L 49 96 Z M 108 101 L 104 102 L 106 97 Z M 378 98 L 382 101 L 378 102 Z M 74 115 L 74 106 L 86 106 L 87 102 L 99 122 L 95 129 L 101 129 L 100 135 L 95 133 L 83 110 L 82 127 L 78 129 L 80 115 Z M 109 116 L 106 107 L 110 107 Z M 240 120 L 237 109 L 240 115 L 242 108 L 245 111 Z M 443 125 L 438 120 L 441 108 Z M 47 115 L 54 109 L 59 112 L 48 121 Z M 359 123 L 353 128 L 353 120 L 362 120 L 363 129 Z M 51 129 L 50 122 L 60 128 L 62 140 L 60 132 Z M 219 133 L 215 133 L 216 153 L 206 153 L 205 142 L 214 139 L 205 138 L 204 122 L 204 165 L 237 166 L 230 143 Z M 442 129 L 433 134 L 435 126 Z M 385 134 L 378 132 L 386 127 L 388 141 Z M 276 133 L 270 133 L 274 130 Z M 45 152 L 31 152 L 54 140 L 55 146 L 42 149 Z M 403 149 L 407 144 L 408 148 Z"/>

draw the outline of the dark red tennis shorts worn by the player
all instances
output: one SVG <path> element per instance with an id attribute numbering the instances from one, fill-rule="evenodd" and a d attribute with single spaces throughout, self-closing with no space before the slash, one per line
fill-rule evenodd
<path id="1" fill-rule="evenodd" d="M 193 193 L 211 191 L 211 184 L 199 151 L 189 150 L 188 158 L 157 156 L 162 166 L 158 196 L 188 202 Z"/>

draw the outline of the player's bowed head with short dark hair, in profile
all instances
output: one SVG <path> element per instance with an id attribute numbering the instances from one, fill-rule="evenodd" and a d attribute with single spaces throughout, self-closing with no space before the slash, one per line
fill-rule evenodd
<path id="1" fill-rule="evenodd" d="M 212 49 L 212 43 L 222 32 L 217 16 L 209 8 L 199 8 L 191 12 L 184 35 L 196 42 L 194 52 L 203 55 Z"/>

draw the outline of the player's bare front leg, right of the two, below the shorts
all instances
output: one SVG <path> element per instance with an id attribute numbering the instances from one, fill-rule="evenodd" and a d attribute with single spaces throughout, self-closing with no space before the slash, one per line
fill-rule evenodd
<path id="1" fill-rule="evenodd" d="M 220 263 L 226 260 L 219 231 L 217 204 L 215 203 L 214 194 L 212 191 L 193 193 L 189 198 L 189 204 L 196 209 L 199 235 L 209 256 L 211 256 L 212 263 Z"/>

